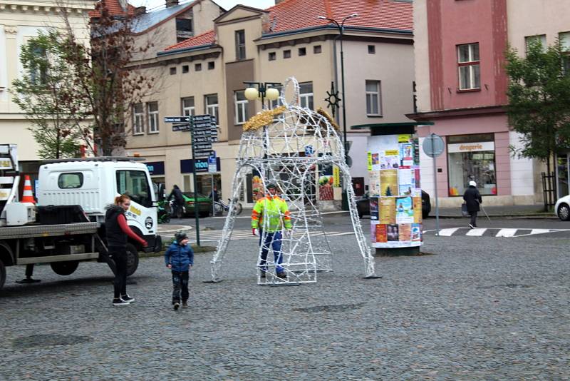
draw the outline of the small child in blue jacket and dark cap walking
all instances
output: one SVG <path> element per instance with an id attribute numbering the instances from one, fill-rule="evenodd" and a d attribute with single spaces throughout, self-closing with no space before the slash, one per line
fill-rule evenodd
<path id="1" fill-rule="evenodd" d="M 185 232 L 177 232 L 175 242 L 165 253 L 165 264 L 172 270 L 172 306 L 180 308 L 180 293 L 182 293 L 182 308 L 188 308 L 188 270 L 194 265 L 194 251 L 188 244 Z"/>

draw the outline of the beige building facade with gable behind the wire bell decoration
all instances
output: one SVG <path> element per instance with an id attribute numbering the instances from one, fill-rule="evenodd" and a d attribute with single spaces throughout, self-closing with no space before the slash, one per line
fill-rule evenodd
<path id="1" fill-rule="evenodd" d="M 267 10 L 236 6 L 214 19 L 212 31 L 171 46 L 145 63 L 152 66 L 149 70 L 161 68 L 165 86 L 140 106 L 142 115 L 132 121 L 140 123 L 139 128 L 133 128 L 139 133 L 128 138 L 127 151 L 158 164 L 158 168 L 163 167 L 164 173 L 156 174 L 155 178 L 165 181 L 167 189 L 177 184 L 183 191 L 192 191 L 192 165 L 201 171 L 206 166 L 205 159 L 195 163 L 191 160 L 190 133 L 173 132 L 172 125 L 163 122 L 165 116 L 217 114 L 219 141 L 212 148 L 219 162 L 218 171 L 199 172 L 197 190 L 207 195 L 213 179 L 227 198 L 231 195 L 242 125 L 261 111 L 260 101 L 246 101 L 243 97 L 242 91 L 248 87 L 244 81 L 283 83 L 294 76 L 301 85 L 301 105 L 331 113 L 325 100 L 327 91 L 331 91 L 331 83 L 341 90 L 338 29 L 327 22 L 316 24 L 315 16 L 306 28 L 289 29 L 281 25 L 280 30 L 279 22 L 284 22 L 284 13 L 289 11 L 283 7 L 291 4 L 295 2 L 284 2 Z M 279 21 L 275 21 L 278 11 Z M 326 15 L 325 11 L 323 14 Z M 413 111 L 413 32 L 411 28 L 405 31 L 346 28 L 343 53 L 346 124 L 348 141 L 353 141 L 351 171 L 353 177 L 367 183 L 369 132 L 351 131 L 350 127 L 410 121 L 404 114 Z M 367 100 L 373 100 L 375 106 L 367 106 Z M 150 104 L 157 106 L 152 106 L 152 110 L 158 110 L 158 131 L 149 130 L 149 121 L 155 118 L 155 114 L 148 113 Z M 266 107 L 273 106 L 276 103 L 266 103 Z M 342 125 L 341 109 L 336 117 Z M 248 189 L 251 181 L 245 180 L 241 202 L 252 205 Z"/>

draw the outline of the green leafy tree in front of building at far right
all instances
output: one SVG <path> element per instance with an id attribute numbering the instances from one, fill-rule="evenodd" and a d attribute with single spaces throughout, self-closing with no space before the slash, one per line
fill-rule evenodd
<path id="1" fill-rule="evenodd" d="M 560 41 L 546 49 L 539 41 L 529 41 L 526 57 L 509 48 L 506 59 L 507 116 L 522 137 L 522 147 L 511 149 L 520 157 L 545 161 L 551 173 L 553 153 L 570 147 L 568 56 Z"/>

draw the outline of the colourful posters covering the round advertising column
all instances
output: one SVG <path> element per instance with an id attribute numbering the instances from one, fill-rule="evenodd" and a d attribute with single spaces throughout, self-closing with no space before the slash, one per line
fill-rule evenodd
<path id="1" fill-rule="evenodd" d="M 420 152 L 413 135 L 368 137 L 371 240 L 374 248 L 422 244 Z"/>

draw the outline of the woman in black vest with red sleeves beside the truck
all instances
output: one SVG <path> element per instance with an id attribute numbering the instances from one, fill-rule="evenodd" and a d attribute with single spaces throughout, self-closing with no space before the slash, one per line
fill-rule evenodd
<path id="1" fill-rule="evenodd" d="M 125 212 L 130 208 L 130 197 L 119 195 L 115 203 L 107 207 L 105 213 L 105 231 L 109 257 L 115 262 L 115 295 L 113 305 L 129 305 L 135 301 L 127 293 L 127 243 L 128 239 L 135 240 L 146 248 L 147 241 L 140 238 L 129 228 Z"/>

